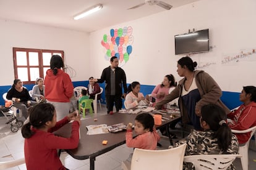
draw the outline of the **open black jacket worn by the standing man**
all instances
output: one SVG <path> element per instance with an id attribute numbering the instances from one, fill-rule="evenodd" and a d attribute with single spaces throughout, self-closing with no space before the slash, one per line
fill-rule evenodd
<path id="1" fill-rule="evenodd" d="M 103 83 L 105 81 L 105 94 L 111 94 L 111 86 L 110 86 L 110 74 L 111 67 L 107 67 L 102 71 L 101 78 L 98 79 L 98 83 Z M 122 95 L 122 86 L 124 87 L 124 93 L 127 93 L 127 84 L 126 84 L 126 73 L 122 68 L 117 67 L 115 70 L 116 75 L 116 95 Z"/>

